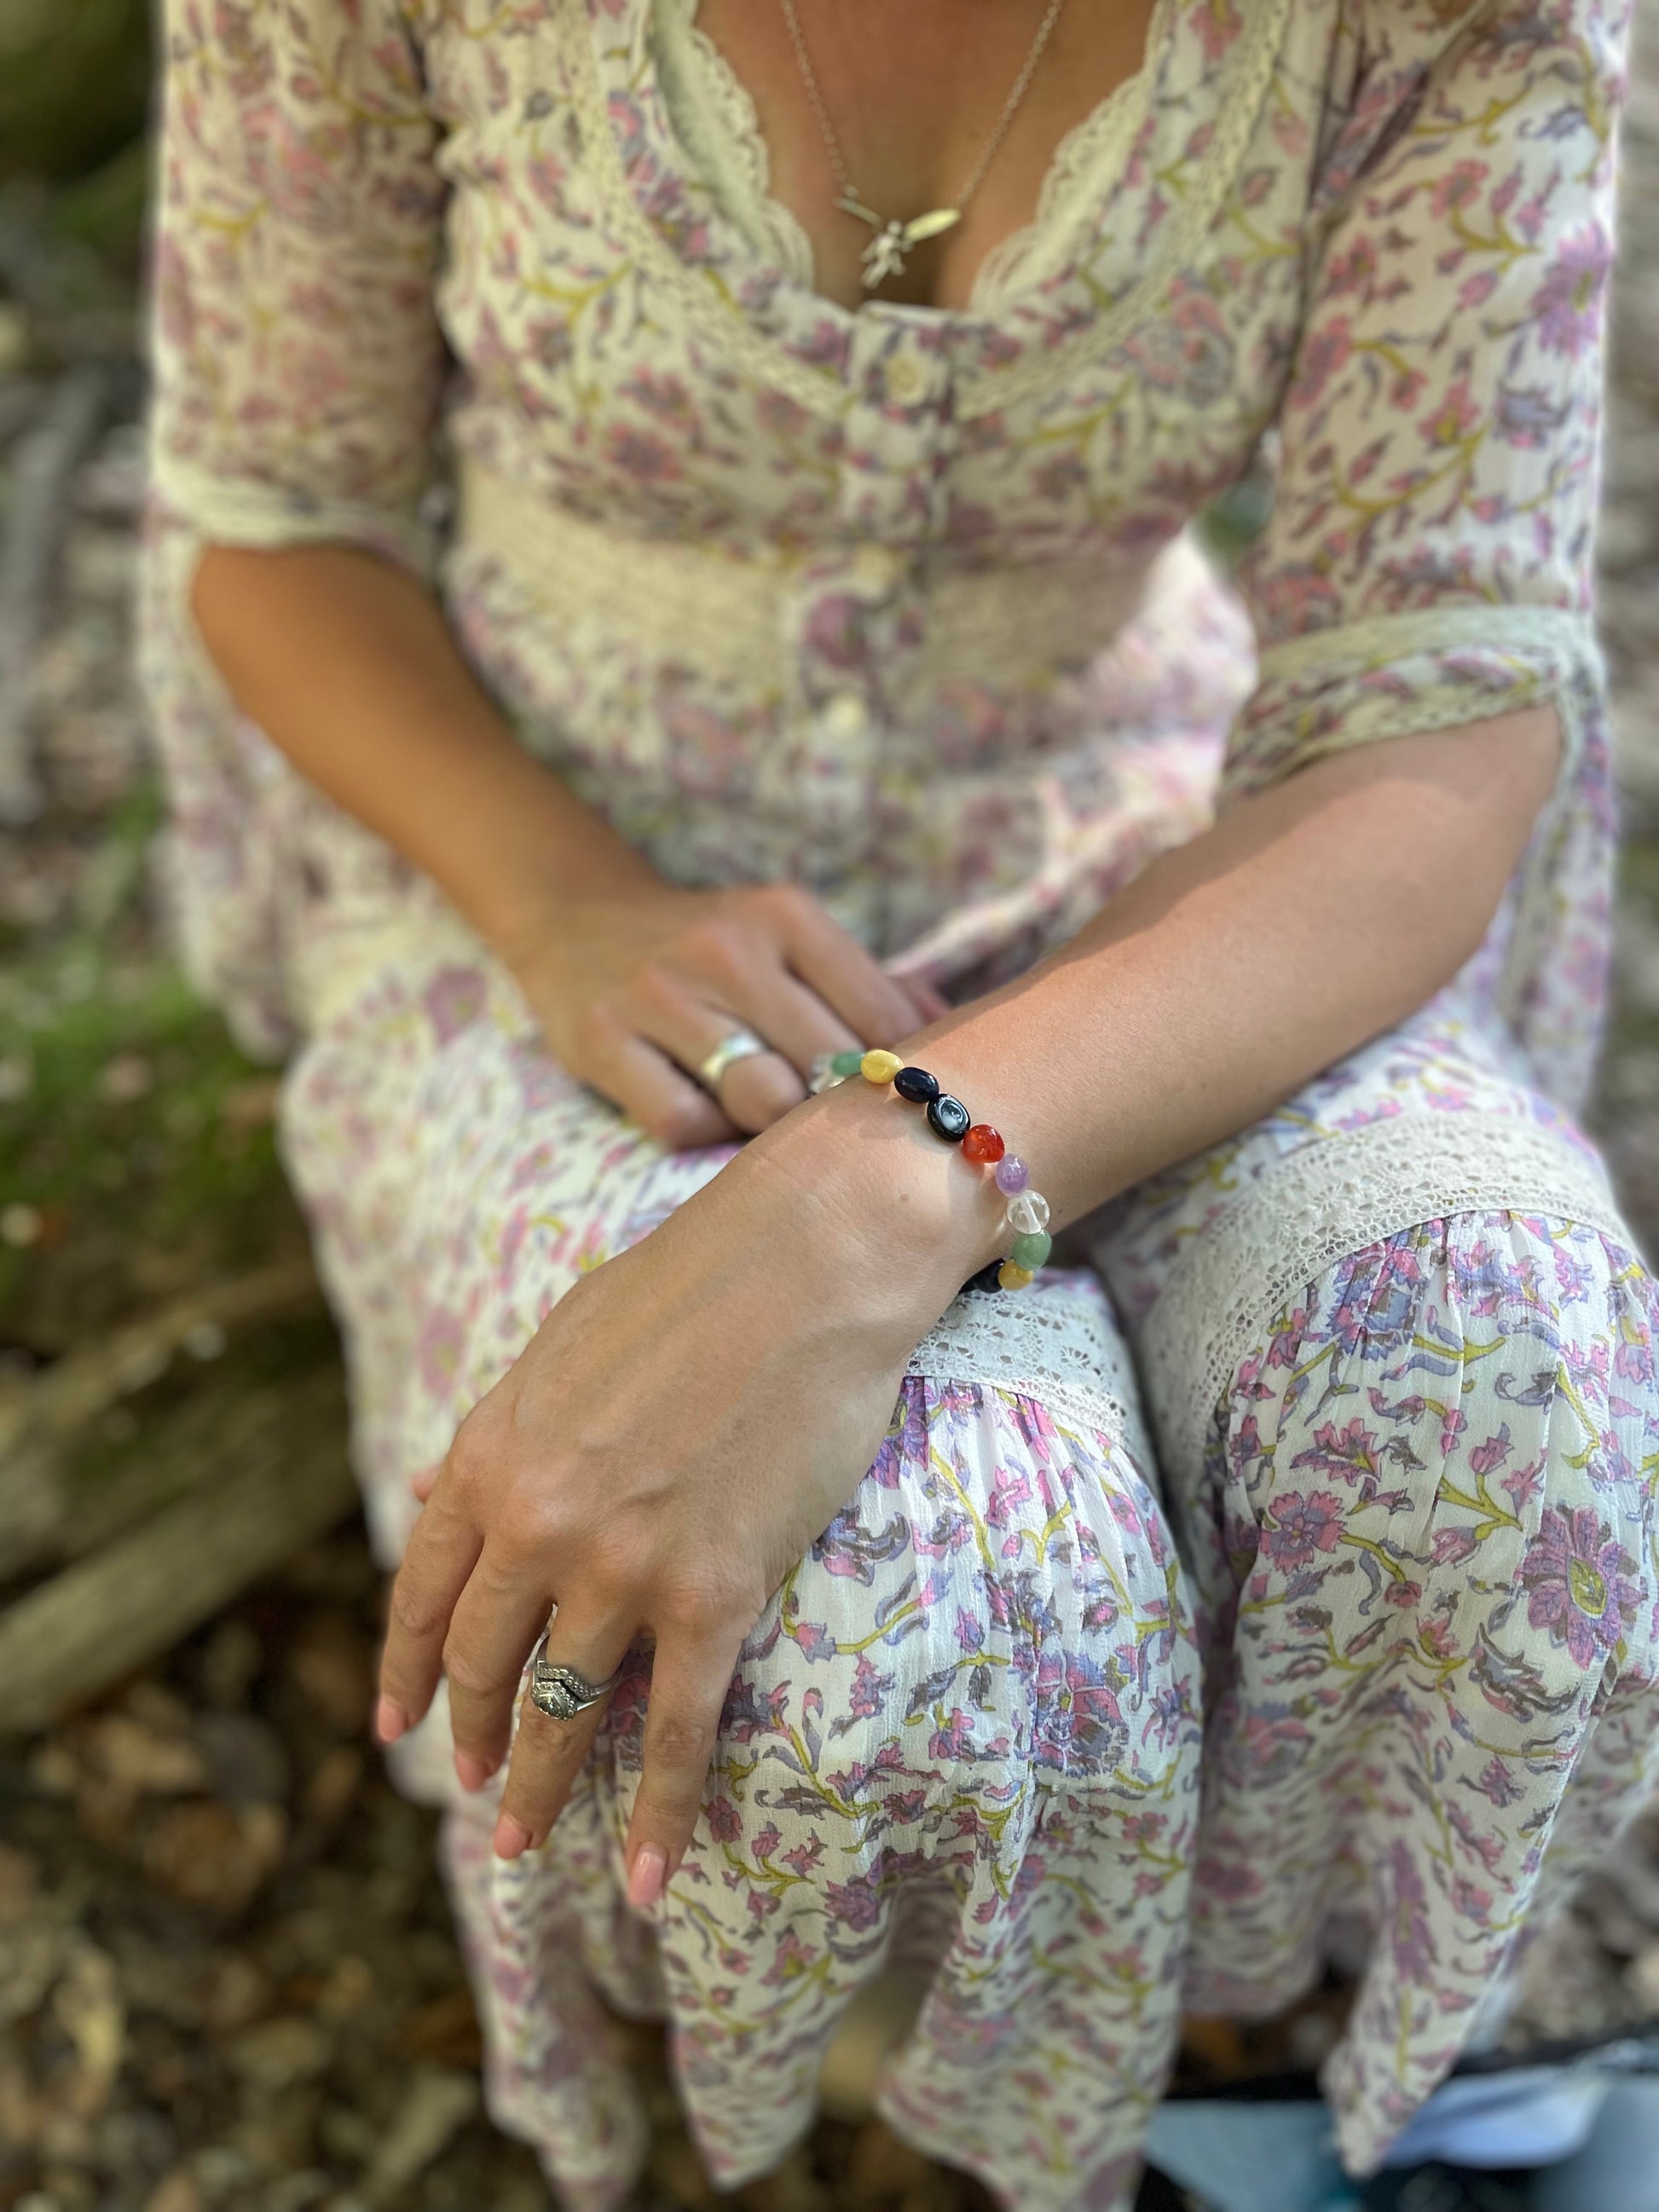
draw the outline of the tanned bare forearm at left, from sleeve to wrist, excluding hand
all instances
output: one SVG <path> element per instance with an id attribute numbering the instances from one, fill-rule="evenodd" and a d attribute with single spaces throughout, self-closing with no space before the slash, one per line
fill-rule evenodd
<path id="1" fill-rule="evenodd" d="M 208 546 L 192 613 L 237 706 L 498 949 L 564 900 L 655 883 L 524 752 L 407 571 L 343 544 Z"/>

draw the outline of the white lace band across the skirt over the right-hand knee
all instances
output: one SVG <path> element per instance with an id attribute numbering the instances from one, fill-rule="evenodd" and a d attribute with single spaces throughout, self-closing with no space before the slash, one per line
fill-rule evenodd
<path id="1" fill-rule="evenodd" d="M 1500 1113 L 1402 1113 L 1272 1161 L 1175 1263 L 1141 1334 L 1141 1380 L 1177 1491 L 1274 1314 L 1349 1252 L 1449 1214 L 1548 1214 L 1632 1245 L 1593 1159 Z"/>

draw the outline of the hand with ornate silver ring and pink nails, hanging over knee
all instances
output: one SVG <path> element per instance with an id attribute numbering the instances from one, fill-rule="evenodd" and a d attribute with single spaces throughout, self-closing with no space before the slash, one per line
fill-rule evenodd
<path id="1" fill-rule="evenodd" d="M 863 1091 L 863 1086 L 858 1086 Z M 995 1230 L 949 1148 L 880 1099 L 812 1099 L 575 1283 L 460 1425 L 392 1590 L 385 1741 L 449 1677 L 467 1787 L 522 1668 L 604 1681 L 655 1641 L 628 1893 L 686 1851 L 743 1637 L 874 1460 L 905 1363 Z M 918 1141 L 920 1139 L 920 1141 Z M 495 1849 L 557 1818 L 602 1708 L 520 1717 Z"/>

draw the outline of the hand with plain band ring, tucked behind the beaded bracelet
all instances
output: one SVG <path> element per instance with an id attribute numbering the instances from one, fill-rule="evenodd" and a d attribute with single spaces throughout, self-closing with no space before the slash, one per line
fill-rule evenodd
<path id="1" fill-rule="evenodd" d="M 672 1150 L 768 1128 L 818 1053 L 887 1044 L 945 1013 L 898 982 L 799 885 L 628 885 L 568 900 L 504 953 L 553 1057 Z M 719 1099 L 695 1071 L 734 1029 Z"/>

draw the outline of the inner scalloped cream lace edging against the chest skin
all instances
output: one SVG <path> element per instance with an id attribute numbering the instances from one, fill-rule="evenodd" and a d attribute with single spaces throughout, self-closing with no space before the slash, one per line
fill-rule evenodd
<path id="1" fill-rule="evenodd" d="M 1029 223 L 1011 230 L 980 261 L 964 314 L 995 314 L 1015 292 L 1060 274 L 1084 219 L 1095 215 L 1133 148 L 1152 97 L 1155 58 L 1164 51 L 1175 0 L 1155 0 L 1133 75 L 1115 84 L 1053 150 Z M 801 217 L 772 192 L 772 153 L 750 88 L 726 51 L 697 22 L 701 0 L 650 0 L 655 62 L 675 131 L 732 221 L 757 252 L 807 290 L 818 265 Z M 949 316 L 958 310 L 914 310 Z"/>

